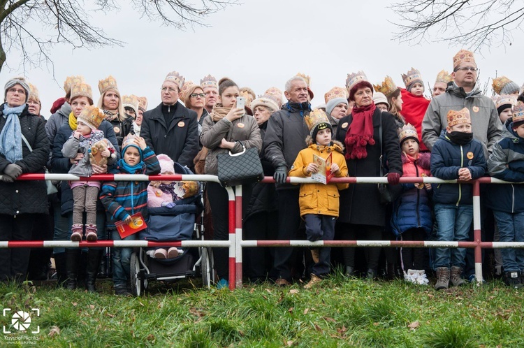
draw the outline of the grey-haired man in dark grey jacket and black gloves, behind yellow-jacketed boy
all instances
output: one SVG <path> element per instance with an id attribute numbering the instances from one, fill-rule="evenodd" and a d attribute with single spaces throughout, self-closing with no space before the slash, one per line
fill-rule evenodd
<path id="1" fill-rule="evenodd" d="M 275 168 L 275 182 L 278 192 L 279 222 L 277 239 L 297 240 L 300 228 L 299 187 L 286 184 L 287 173 L 298 152 L 306 147 L 305 138 L 310 133 L 304 116 L 311 111 L 307 82 L 301 76 L 294 76 L 286 82 L 284 95 L 288 102 L 282 110 L 273 113 L 265 131 L 263 151 L 265 158 Z M 290 285 L 291 268 L 296 259 L 296 250 L 291 247 L 275 249 L 273 276 L 278 285 Z"/>

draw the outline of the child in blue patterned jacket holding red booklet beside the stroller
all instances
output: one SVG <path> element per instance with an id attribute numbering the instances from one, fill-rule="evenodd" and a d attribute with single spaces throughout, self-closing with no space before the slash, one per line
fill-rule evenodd
<path id="1" fill-rule="evenodd" d="M 147 147 L 144 138 L 133 135 L 122 141 L 122 159 L 111 174 L 145 174 L 160 173 L 160 164 L 154 152 Z M 141 212 L 147 222 L 147 181 L 112 181 L 105 182 L 101 189 L 100 199 L 108 213 L 107 229 L 111 231 L 112 240 L 122 240 L 115 227 L 115 222 L 131 222 L 131 215 Z M 132 234 L 124 240 L 136 240 Z M 129 287 L 130 262 L 133 248 L 115 247 L 113 249 L 113 284 L 115 294 L 130 296 Z"/>

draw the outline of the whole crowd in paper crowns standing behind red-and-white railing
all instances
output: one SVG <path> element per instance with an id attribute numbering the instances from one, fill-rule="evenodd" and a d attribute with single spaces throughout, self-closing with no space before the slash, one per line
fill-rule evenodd
<path id="1" fill-rule="evenodd" d="M 4 88 L 0 107 L 0 240 L 121 240 L 116 227 L 148 209 L 174 208 L 173 182 L 20 181 L 25 173 L 173 174 L 174 166 L 217 175 L 218 156 L 255 148 L 265 176 L 275 184 L 242 186 L 245 240 L 472 240 L 472 185 L 483 175 L 524 181 L 524 94 L 505 76 L 493 80 L 496 96 L 479 89 L 474 54 L 460 50 L 451 73 L 437 74 L 431 98 L 416 68 L 372 85 L 349 73 L 344 87 L 312 108 L 309 76 L 256 96 L 230 78 L 207 75 L 199 84 L 173 71 L 161 84 L 161 103 L 122 95 L 112 76 L 92 87 L 82 76 L 64 82 L 65 95 L 42 117 L 38 89 L 25 78 Z M 523 86 L 524 87 L 524 86 Z M 242 96 L 245 108 L 237 108 Z M 283 96 L 286 101 L 284 101 Z M 314 177 L 316 184 L 290 184 L 288 177 Z M 334 184 L 335 177 L 387 177 L 387 185 Z M 400 177 L 434 176 L 458 184 L 400 184 Z M 322 181 L 323 180 L 323 181 Z M 228 194 L 206 182 L 203 194 L 208 238 L 228 240 Z M 485 240 L 524 242 L 524 187 L 481 187 Z M 158 204 L 157 204 L 158 203 Z M 490 218 L 494 220 L 490 228 Z M 125 240 L 136 239 L 129 235 Z M 341 250 L 340 250 L 341 249 Z M 266 247 L 244 249 L 249 282 L 271 280 L 285 287 L 305 277 L 317 286 L 340 265 L 347 277 L 402 277 L 435 289 L 474 280 L 465 248 Z M 52 253 L 52 254 L 51 254 Z M 148 255 L 175 259 L 182 249 L 157 248 Z M 96 291 L 104 249 L 100 247 L 0 249 L 0 281 L 43 279 L 52 257 L 60 286 Z M 129 248 L 112 250 L 117 295 L 130 295 Z M 228 251 L 214 249 L 217 287 L 228 287 Z M 495 273 L 511 287 L 524 287 L 521 249 L 495 252 Z"/>

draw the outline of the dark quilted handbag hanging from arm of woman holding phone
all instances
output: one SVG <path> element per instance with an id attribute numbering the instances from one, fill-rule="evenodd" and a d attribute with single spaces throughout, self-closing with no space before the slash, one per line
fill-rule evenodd
<path id="1" fill-rule="evenodd" d="M 223 187 L 231 187 L 242 184 L 252 184 L 264 178 L 264 171 L 259 157 L 259 151 L 255 147 L 246 149 L 242 145 L 242 152 L 232 154 L 219 154 L 218 178 Z"/>

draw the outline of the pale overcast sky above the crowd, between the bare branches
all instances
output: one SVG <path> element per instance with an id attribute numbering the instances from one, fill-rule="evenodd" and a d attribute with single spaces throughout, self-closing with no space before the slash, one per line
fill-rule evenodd
<path id="1" fill-rule="evenodd" d="M 187 81 L 200 82 L 208 73 L 217 80 L 232 78 L 240 87 L 251 87 L 257 95 L 268 87 L 284 89 L 298 72 L 311 77 L 313 106 L 323 103 L 331 87 L 344 86 L 347 73 L 362 70 L 377 84 L 386 75 L 404 87 L 401 73 L 412 66 L 432 85 L 443 68 L 452 69 L 452 57 L 460 47 L 425 43 L 408 45 L 393 41 L 396 20 L 391 1 L 245 0 L 203 21 L 209 27 L 177 31 L 140 18 L 140 13 L 120 1 L 121 10 L 107 16 L 94 13 L 94 24 L 105 34 L 125 41 L 124 47 L 71 50 L 57 45 L 51 66 L 30 68 L 24 75 L 40 91 L 42 114 L 48 117 L 52 102 L 64 96 L 68 75 L 84 75 L 99 99 L 98 81 L 113 75 L 121 94 L 147 96 L 149 108 L 160 103 L 160 87 L 170 71 L 179 71 Z M 31 24 L 38 30 L 38 25 Z M 524 34 L 516 32 L 507 48 L 486 48 L 476 54 L 481 85 L 507 75 L 518 85 L 524 82 L 521 61 Z M 0 83 L 23 71 L 17 69 L 17 52 L 8 52 Z M 427 85 L 427 83 L 426 83 Z M 427 87 L 427 86 L 426 86 Z M 426 91 L 428 93 L 428 91 Z"/>

